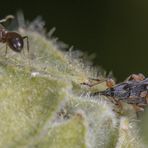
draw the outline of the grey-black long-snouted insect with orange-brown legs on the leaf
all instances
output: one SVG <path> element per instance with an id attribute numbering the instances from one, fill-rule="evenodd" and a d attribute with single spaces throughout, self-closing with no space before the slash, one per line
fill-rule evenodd
<path id="1" fill-rule="evenodd" d="M 95 80 L 95 79 L 93 79 Z M 97 85 L 99 80 L 95 84 L 82 83 L 90 87 Z M 92 93 L 91 96 L 105 95 L 112 97 L 115 104 L 120 104 L 122 101 L 133 105 L 134 109 L 143 111 L 144 107 L 148 104 L 148 78 L 145 78 L 143 74 L 132 74 L 124 82 L 114 85 L 112 79 L 106 80 L 108 88 L 104 91 Z"/>

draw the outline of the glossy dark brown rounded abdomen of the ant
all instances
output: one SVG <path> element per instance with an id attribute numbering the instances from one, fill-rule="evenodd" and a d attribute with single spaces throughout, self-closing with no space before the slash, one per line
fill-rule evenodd
<path id="1" fill-rule="evenodd" d="M 23 37 L 16 32 L 7 32 L 6 42 L 8 46 L 15 52 L 21 52 L 24 47 Z"/>

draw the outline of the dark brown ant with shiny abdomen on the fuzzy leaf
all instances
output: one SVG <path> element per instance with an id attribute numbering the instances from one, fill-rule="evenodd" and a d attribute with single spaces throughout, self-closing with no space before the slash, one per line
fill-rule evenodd
<path id="1" fill-rule="evenodd" d="M 4 19 L 0 20 L 0 42 L 6 43 L 6 52 L 7 54 L 7 48 L 11 48 L 15 52 L 21 52 L 24 47 L 24 39 L 27 39 L 27 50 L 29 52 L 29 40 L 28 36 L 21 36 L 17 32 L 7 31 L 5 27 L 1 24 L 4 23 L 10 19 L 14 19 L 13 15 L 8 15 Z"/>

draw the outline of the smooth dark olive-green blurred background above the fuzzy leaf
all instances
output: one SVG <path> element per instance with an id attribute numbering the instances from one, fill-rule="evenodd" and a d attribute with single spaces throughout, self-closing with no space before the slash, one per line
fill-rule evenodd
<path id="1" fill-rule="evenodd" d="M 4 0 L 0 17 L 22 10 L 25 18 L 41 15 L 46 28 L 76 49 L 96 54 L 94 63 L 118 81 L 131 73 L 147 75 L 147 0 Z"/>

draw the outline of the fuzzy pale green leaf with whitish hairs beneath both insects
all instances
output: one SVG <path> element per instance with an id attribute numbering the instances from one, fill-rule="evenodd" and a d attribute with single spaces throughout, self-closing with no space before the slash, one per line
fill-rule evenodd
<path id="1" fill-rule="evenodd" d="M 94 91 L 80 85 L 89 68 L 43 35 L 22 34 L 29 36 L 29 54 L 9 49 L 5 57 L 1 49 L 0 147 L 142 147 L 128 114 L 115 113 L 108 98 L 82 95 Z"/>

